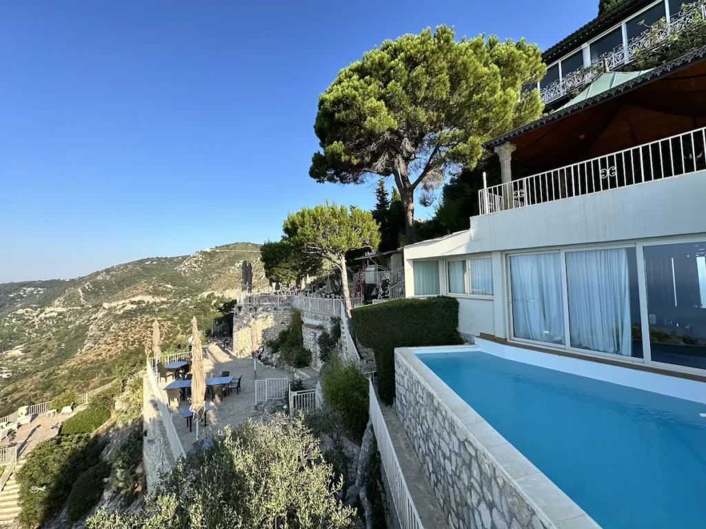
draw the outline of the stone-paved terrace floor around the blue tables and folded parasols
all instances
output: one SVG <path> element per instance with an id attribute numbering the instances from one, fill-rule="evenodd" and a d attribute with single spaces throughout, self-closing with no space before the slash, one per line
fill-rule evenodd
<path id="1" fill-rule="evenodd" d="M 255 370 L 253 367 L 252 358 L 235 358 L 231 354 L 224 351 L 215 343 L 208 345 L 207 358 L 203 359 L 203 372 L 206 378 L 211 376 L 217 377 L 221 371 L 229 371 L 234 377 L 233 382 L 237 382 L 241 375 L 243 379 L 240 383 L 240 394 L 235 390 L 225 399 L 220 402 L 216 397 L 211 403 L 210 397 L 207 402 L 212 404 L 213 409 L 208 412 L 208 426 L 205 430 L 207 437 L 212 437 L 219 431 L 222 431 L 226 425 L 237 426 L 252 417 L 261 417 L 263 415 L 262 408 L 255 408 Z M 213 374 L 213 375 L 210 375 Z M 265 378 L 292 378 L 292 373 L 275 369 L 274 367 L 264 366 L 258 363 L 258 380 Z M 172 378 L 160 380 L 160 387 L 165 387 Z M 185 451 L 189 451 L 191 445 L 196 442 L 196 422 L 193 424 L 192 431 L 189 432 L 189 427 L 186 425 L 186 419 L 181 415 L 181 412 L 170 403 L 172 411 L 174 411 L 174 426 L 177 428 L 181 446 L 184 446 Z M 189 401 L 179 402 L 179 406 L 189 406 Z M 199 437 L 203 439 L 203 420 L 199 426 Z"/>

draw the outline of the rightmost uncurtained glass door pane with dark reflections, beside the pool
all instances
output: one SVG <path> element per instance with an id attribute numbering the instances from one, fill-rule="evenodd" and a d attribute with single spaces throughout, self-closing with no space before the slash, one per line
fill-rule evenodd
<path id="1" fill-rule="evenodd" d="M 644 252 L 652 360 L 706 369 L 706 243 Z"/>

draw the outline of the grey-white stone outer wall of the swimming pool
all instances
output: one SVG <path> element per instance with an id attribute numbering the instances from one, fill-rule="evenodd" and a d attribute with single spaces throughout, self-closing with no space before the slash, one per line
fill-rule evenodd
<path id="1" fill-rule="evenodd" d="M 455 529 L 549 529 L 488 451 L 395 353 L 395 412 Z"/>

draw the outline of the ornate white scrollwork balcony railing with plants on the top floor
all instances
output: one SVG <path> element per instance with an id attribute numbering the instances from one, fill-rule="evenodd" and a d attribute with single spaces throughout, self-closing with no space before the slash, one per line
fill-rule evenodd
<path id="1" fill-rule="evenodd" d="M 602 54 L 584 68 L 562 75 L 560 79 L 541 87 L 539 92 L 544 104 L 551 104 L 567 95 L 571 95 L 595 80 L 603 71 L 617 71 L 635 59 L 635 54 L 642 49 L 650 49 L 662 44 L 669 35 L 681 32 L 695 22 L 706 19 L 706 2 L 690 4 L 683 11 L 669 17 L 668 22 L 658 22 L 647 28 L 637 37 L 619 44 L 611 51 Z M 623 22 L 621 26 L 624 26 Z M 624 28 L 623 28 L 624 29 Z M 624 33 L 624 31 L 623 31 Z"/>

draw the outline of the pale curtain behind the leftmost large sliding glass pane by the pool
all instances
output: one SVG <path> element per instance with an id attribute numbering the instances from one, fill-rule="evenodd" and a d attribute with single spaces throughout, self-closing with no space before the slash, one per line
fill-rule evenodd
<path id="1" fill-rule="evenodd" d="M 510 257 L 515 337 L 564 343 L 558 253 Z"/>

